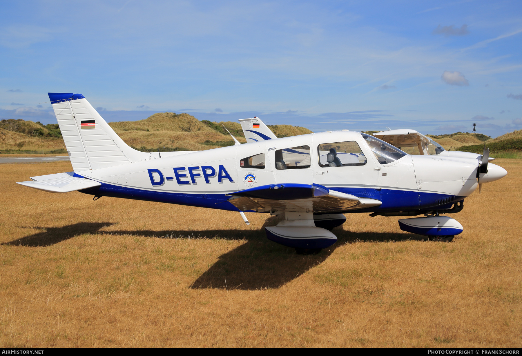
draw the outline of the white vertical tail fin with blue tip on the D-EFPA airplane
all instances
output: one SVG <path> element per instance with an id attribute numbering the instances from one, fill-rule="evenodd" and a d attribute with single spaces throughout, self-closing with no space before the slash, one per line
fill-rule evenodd
<path id="1" fill-rule="evenodd" d="M 158 156 L 158 153 L 140 152 L 125 144 L 82 94 L 48 94 L 75 172 Z"/>

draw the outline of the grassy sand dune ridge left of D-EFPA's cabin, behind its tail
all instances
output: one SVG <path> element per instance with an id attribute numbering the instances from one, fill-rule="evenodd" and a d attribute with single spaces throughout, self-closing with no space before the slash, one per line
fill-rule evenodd
<path id="1" fill-rule="evenodd" d="M 238 122 L 199 121 L 192 115 L 182 113 L 157 113 L 145 120 L 111 122 L 114 129 L 127 145 L 137 149 L 184 148 L 205 150 L 233 145 L 232 134 L 240 143 L 246 143 Z M 229 130 L 230 134 L 223 127 Z M 2 151 L 53 151 L 65 149 L 60 130 L 51 126 L 23 120 L 0 122 L 0 152 Z M 304 127 L 275 125 L 279 137 L 311 133 Z M 53 136 L 54 135 L 54 136 Z M 57 136 L 57 137 L 55 137 Z M 213 144 L 212 144 L 213 143 Z"/>

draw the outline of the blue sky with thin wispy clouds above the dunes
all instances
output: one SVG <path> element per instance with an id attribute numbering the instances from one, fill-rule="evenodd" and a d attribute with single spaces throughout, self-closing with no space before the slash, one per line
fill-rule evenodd
<path id="1" fill-rule="evenodd" d="M 107 121 L 522 128 L 520 1 L 2 2 L 0 51 L 1 118 L 74 92 Z"/>

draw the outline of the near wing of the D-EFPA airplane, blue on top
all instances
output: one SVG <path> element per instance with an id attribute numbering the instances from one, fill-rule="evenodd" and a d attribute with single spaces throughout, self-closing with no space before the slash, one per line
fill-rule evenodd
<path id="1" fill-rule="evenodd" d="M 371 208 L 381 205 L 375 199 L 359 198 L 351 194 L 313 184 L 272 184 L 235 192 L 230 203 L 241 211 L 313 211 L 331 213 Z"/>

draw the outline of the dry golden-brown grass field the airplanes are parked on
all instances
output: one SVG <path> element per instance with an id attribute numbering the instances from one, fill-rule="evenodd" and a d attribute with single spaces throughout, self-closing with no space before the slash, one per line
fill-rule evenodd
<path id="1" fill-rule="evenodd" d="M 68 162 L 0 165 L 2 347 L 519 347 L 522 160 L 454 217 L 452 243 L 348 215 L 296 255 L 259 213 L 51 194 Z"/>

